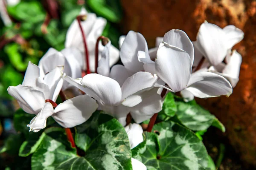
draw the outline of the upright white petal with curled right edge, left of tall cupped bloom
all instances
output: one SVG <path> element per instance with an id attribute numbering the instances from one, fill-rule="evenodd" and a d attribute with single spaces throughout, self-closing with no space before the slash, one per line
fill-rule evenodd
<path id="1" fill-rule="evenodd" d="M 146 58 L 148 55 L 148 45 L 142 34 L 129 31 L 120 50 L 122 63 L 134 73 L 143 70 L 143 63 L 138 60 L 138 51 L 145 51 Z"/>

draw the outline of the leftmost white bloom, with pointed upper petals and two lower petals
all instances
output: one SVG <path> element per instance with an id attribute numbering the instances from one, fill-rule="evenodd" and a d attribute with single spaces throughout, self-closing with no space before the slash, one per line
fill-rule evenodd
<path id="1" fill-rule="evenodd" d="M 74 127 L 89 119 L 98 107 L 94 99 L 82 95 L 61 103 L 53 110 L 52 104 L 46 100 L 56 101 L 63 83 L 62 70 L 63 67 L 57 67 L 42 78 L 40 68 L 29 62 L 22 85 L 7 89 L 23 111 L 37 115 L 28 125 L 33 132 L 46 127 L 49 116 L 63 127 Z"/>

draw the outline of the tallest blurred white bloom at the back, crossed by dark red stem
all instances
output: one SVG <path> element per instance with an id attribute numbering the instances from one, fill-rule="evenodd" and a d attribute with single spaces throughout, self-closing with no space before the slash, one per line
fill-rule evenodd
<path id="1" fill-rule="evenodd" d="M 107 21 L 102 17 L 96 17 L 94 13 L 87 13 L 85 8 L 81 9 L 80 15 L 86 15 L 87 18 L 84 21 L 81 21 L 82 28 L 84 30 L 84 34 L 86 37 L 87 48 L 89 52 L 89 65 L 90 71 L 95 71 L 95 46 L 96 41 L 99 36 L 102 35 L 103 29 L 106 26 Z M 76 47 L 83 53 L 84 51 L 84 43 L 81 35 L 81 30 L 79 28 L 79 23 L 77 20 L 74 20 L 71 24 L 70 28 L 67 30 L 65 47 Z M 99 54 L 104 49 L 104 46 L 99 43 Z M 101 56 L 99 55 L 99 59 Z M 119 50 L 111 45 L 111 55 L 110 55 L 110 65 L 112 66 L 119 60 Z M 86 70 L 86 64 L 84 59 L 80 61 L 83 63 L 83 68 Z"/>

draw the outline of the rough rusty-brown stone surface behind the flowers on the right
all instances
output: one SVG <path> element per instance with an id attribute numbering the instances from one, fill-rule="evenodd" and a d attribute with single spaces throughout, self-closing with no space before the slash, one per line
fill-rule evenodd
<path id="1" fill-rule="evenodd" d="M 154 47 L 157 36 L 173 28 L 195 40 L 204 20 L 244 31 L 244 40 L 234 47 L 243 62 L 233 94 L 197 101 L 224 123 L 224 135 L 241 159 L 256 166 L 256 0 L 122 0 L 122 6 L 123 33 L 142 33 L 149 47 Z"/>

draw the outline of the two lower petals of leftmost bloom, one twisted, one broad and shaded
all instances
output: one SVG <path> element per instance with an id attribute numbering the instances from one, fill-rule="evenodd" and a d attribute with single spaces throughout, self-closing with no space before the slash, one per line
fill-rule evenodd
<path id="1" fill-rule="evenodd" d="M 40 113 L 30 121 L 27 127 L 29 131 L 38 132 L 46 127 L 49 116 L 52 116 L 62 127 L 75 127 L 86 122 L 97 108 L 96 101 L 86 94 L 68 99 L 55 109 L 51 103 L 46 102 Z"/>

